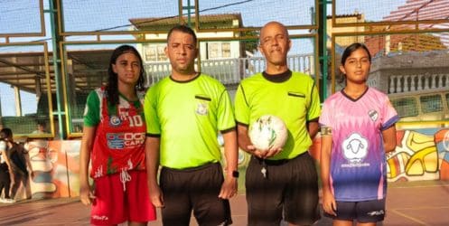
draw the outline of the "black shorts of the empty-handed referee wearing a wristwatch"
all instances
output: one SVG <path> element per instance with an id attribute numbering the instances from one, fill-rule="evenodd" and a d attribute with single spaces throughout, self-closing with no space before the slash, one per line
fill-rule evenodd
<path id="1" fill-rule="evenodd" d="M 163 167 L 159 180 L 164 194 L 164 225 L 189 225 L 192 210 L 199 225 L 232 222 L 229 200 L 219 198 L 224 181 L 219 163 L 183 170 Z"/>

